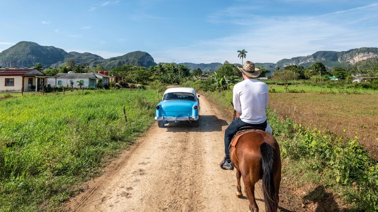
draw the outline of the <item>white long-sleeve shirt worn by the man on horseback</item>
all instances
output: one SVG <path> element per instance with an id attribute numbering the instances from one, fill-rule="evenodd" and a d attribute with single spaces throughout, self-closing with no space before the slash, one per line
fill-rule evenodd
<path id="1" fill-rule="evenodd" d="M 234 86 L 233 103 L 240 119 L 250 124 L 266 121 L 269 98 L 268 85 L 257 79 L 245 79 Z"/>

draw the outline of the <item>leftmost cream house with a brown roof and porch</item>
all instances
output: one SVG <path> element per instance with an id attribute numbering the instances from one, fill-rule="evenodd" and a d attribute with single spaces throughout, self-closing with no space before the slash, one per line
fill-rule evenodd
<path id="1" fill-rule="evenodd" d="M 27 92 L 41 91 L 47 79 L 55 77 L 46 76 L 37 69 L 0 69 L 0 92 Z"/>

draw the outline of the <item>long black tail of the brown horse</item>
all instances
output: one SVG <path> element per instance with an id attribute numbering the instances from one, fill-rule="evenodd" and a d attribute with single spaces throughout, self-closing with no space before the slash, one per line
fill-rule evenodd
<path id="1" fill-rule="evenodd" d="M 273 180 L 273 165 L 275 159 L 275 151 L 268 143 L 260 145 L 262 158 L 262 190 L 265 199 L 265 210 L 267 212 L 276 212 L 278 200 Z"/>

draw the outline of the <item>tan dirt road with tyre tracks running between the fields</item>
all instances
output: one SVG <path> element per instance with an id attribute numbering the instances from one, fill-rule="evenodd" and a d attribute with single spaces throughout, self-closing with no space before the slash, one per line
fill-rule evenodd
<path id="1" fill-rule="evenodd" d="M 200 101 L 198 128 L 187 123 L 166 128 L 155 124 L 104 175 L 72 198 L 66 211 L 247 212 L 247 198 L 236 197 L 235 170 L 219 167 L 228 124 L 217 107 L 204 97 Z M 255 194 L 262 212 L 261 184 Z"/>

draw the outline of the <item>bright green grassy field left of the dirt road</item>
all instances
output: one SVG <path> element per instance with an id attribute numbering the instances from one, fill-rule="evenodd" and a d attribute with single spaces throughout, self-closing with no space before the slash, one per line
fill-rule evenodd
<path id="1" fill-rule="evenodd" d="M 1 100 L 0 211 L 60 211 L 76 185 L 148 129 L 156 103 L 153 90 Z"/>

